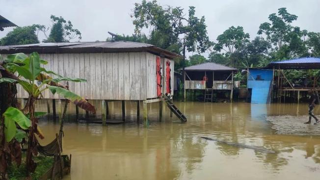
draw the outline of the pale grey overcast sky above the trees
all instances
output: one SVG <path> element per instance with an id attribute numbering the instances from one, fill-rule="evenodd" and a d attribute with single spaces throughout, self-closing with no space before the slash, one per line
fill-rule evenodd
<path id="1" fill-rule="evenodd" d="M 70 20 L 82 33 L 81 41 L 105 41 L 111 31 L 132 34 L 130 14 L 135 2 L 141 0 L 0 0 L 0 15 L 18 26 L 41 24 L 50 26 L 50 15 Z M 158 0 L 160 5 L 196 7 L 196 16 L 205 16 L 208 35 L 217 35 L 231 26 L 242 26 L 251 38 L 257 35 L 259 25 L 268 21 L 268 15 L 287 7 L 298 16 L 293 26 L 320 32 L 320 0 Z M 0 31 L 0 38 L 12 28 Z M 146 34 L 149 30 L 144 30 Z M 43 36 L 40 37 L 40 39 Z"/>

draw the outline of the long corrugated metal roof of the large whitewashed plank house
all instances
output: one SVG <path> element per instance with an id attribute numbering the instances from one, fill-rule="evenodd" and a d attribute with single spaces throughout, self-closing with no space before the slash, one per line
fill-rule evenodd
<path id="1" fill-rule="evenodd" d="M 107 53 L 107 52 L 150 52 L 167 58 L 181 58 L 180 55 L 158 48 L 151 44 L 114 41 L 114 42 L 67 42 L 38 43 L 26 45 L 0 46 L 0 53 Z"/>

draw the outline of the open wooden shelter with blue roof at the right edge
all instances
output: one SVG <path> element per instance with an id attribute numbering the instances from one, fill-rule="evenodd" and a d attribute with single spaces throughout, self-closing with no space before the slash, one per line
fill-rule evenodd
<path id="1" fill-rule="evenodd" d="M 290 82 L 286 77 L 285 70 L 320 69 L 320 58 L 299 58 L 293 60 L 275 61 L 268 64 L 267 68 L 273 69 L 273 101 L 285 102 L 286 97 L 293 97 L 297 102 L 300 100 L 300 92 L 304 95 L 309 90 L 320 91 L 317 84 L 320 77 L 309 77 L 313 80 L 312 85 L 306 84 L 308 77 L 300 77 L 300 83 Z"/>

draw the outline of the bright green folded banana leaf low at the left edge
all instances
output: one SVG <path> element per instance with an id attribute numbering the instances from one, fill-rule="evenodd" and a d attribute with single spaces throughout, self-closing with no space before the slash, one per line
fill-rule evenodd
<path id="1" fill-rule="evenodd" d="M 5 140 L 10 142 L 16 135 L 16 123 L 22 128 L 27 129 L 31 126 L 31 120 L 29 120 L 19 109 L 9 107 L 4 113 L 4 135 Z"/>

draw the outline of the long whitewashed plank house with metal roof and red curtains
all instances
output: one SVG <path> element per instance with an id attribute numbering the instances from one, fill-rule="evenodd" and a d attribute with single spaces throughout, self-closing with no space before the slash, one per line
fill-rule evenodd
<path id="1" fill-rule="evenodd" d="M 161 92 L 173 95 L 173 90 L 170 92 L 174 76 L 173 58 L 179 55 L 151 44 L 116 41 L 0 46 L 2 56 L 31 52 L 38 52 L 40 58 L 49 61 L 44 65 L 46 69 L 65 77 L 86 79 L 86 83 L 69 85 L 70 90 L 85 99 L 148 103 L 160 101 Z M 157 65 L 162 67 L 158 71 Z M 162 87 L 157 85 L 157 74 L 161 76 L 159 83 Z M 20 87 L 18 97 L 28 97 Z M 63 97 L 48 91 L 43 98 Z"/>

